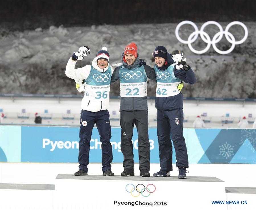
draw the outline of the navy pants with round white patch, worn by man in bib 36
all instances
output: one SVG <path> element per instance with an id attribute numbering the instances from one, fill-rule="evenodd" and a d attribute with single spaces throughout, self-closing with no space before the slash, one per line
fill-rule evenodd
<path id="1" fill-rule="evenodd" d="M 89 164 L 90 141 L 95 123 L 99 131 L 99 135 L 101 136 L 102 171 L 104 172 L 111 169 L 110 163 L 113 160 L 112 145 L 110 143 L 111 127 L 109 123 L 108 110 L 102 110 L 99 112 L 82 110 L 79 133 L 79 168 L 86 172 L 88 171 L 87 165 Z"/>

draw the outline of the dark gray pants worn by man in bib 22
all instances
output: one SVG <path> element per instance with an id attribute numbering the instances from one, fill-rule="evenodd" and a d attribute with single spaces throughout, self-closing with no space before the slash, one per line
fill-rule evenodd
<path id="1" fill-rule="evenodd" d="M 148 140 L 148 111 L 121 111 L 121 151 L 124 169 L 134 169 L 132 135 L 134 123 L 138 131 L 140 170 L 150 168 L 150 144 Z"/>

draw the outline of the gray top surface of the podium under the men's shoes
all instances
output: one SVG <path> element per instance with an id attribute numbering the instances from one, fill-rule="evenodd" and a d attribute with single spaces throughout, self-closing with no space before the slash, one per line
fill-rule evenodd
<path id="1" fill-rule="evenodd" d="M 83 179 L 83 180 L 122 180 L 122 181 L 165 181 L 165 182 L 224 182 L 214 176 L 189 176 L 187 179 L 178 179 L 177 176 L 171 177 L 142 177 L 142 176 L 102 176 L 87 175 L 75 176 L 73 174 L 58 174 L 56 179 Z"/>

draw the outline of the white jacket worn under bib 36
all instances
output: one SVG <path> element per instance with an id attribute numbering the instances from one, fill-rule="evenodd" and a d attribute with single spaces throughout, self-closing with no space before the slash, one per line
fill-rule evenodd
<path id="1" fill-rule="evenodd" d="M 110 67 L 111 68 L 111 75 L 110 75 L 109 79 L 111 79 L 112 73 L 114 71 L 113 67 L 110 66 L 109 64 L 105 69 L 101 69 L 97 65 L 97 59 L 96 58 L 93 59 L 92 65 L 86 65 L 86 66 L 84 66 L 82 68 L 78 68 L 78 69 L 75 69 L 76 62 L 77 61 L 73 61 L 71 59 L 71 57 L 67 62 L 65 74 L 67 75 L 67 77 L 69 77 L 71 79 L 77 79 L 77 80 L 87 79 L 87 77 L 89 77 L 90 72 L 91 72 L 91 66 L 94 67 L 97 71 L 99 71 L 101 73 L 107 71 L 108 67 Z M 119 64 L 116 64 L 116 65 L 113 65 L 113 66 L 114 66 L 114 68 L 116 68 L 118 65 Z M 89 88 L 89 87 L 90 86 L 88 85 L 86 88 Z M 106 87 L 105 90 L 108 92 L 108 96 L 105 99 L 102 98 L 102 100 L 99 100 L 99 99 L 93 100 L 93 99 L 89 98 L 88 96 L 86 96 L 86 91 L 85 91 L 85 95 L 84 95 L 84 97 L 82 99 L 82 102 L 81 102 L 82 109 L 87 110 L 87 111 L 91 111 L 91 112 L 98 112 L 100 110 L 108 109 L 109 108 L 110 85 L 109 85 L 109 87 Z"/>

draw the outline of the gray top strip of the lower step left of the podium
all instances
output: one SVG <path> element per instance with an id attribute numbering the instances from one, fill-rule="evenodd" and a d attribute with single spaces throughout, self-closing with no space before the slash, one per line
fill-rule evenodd
<path id="1" fill-rule="evenodd" d="M 5 189 L 5 190 L 55 190 L 55 184 L 9 184 L 9 183 L 0 183 L 0 189 Z"/>

